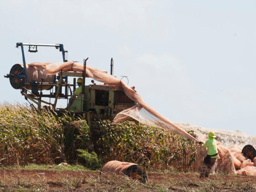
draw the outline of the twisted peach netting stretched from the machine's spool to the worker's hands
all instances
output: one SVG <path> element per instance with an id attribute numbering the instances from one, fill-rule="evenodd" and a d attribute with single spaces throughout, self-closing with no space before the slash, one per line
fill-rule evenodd
<path id="1" fill-rule="evenodd" d="M 62 71 L 76 71 L 76 72 L 82 72 L 84 69 L 84 65 L 81 63 L 77 62 L 72 62 L 72 61 L 67 61 L 67 62 L 62 62 L 62 63 L 42 63 L 42 62 L 34 62 L 34 63 L 29 63 L 27 64 L 29 67 L 43 67 L 47 74 L 56 74 L 59 73 L 60 70 Z M 152 124 L 150 125 L 158 125 L 162 126 L 164 129 L 168 129 L 172 132 L 176 132 L 180 135 L 182 135 L 185 138 L 195 140 L 199 142 L 196 138 L 194 138 L 192 135 L 190 135 L 188 132 L 180 128 L 177 124 L 173 123 L 160 113 L 158 113 L 156 110 L 154 110 L 152 107 L 150 107 L 145 101 L 142 99 L 142 97 L 135 92 L 131 87 L 129 87 L 127 84 L 125 84 L 123 81 L 120 79 L 116 78 L 115 76 L 109 75 L 105 73 L 104 71 L 101 71 L 99 69 L 90 67 L 86 65 L 86 74 L 88 77 L 91 77 L 99 82 L 105 83 L 107 85 L 116 85 L 119 87 L 122 87 L 124 89 L 125 94 L 132 100 L 138 103 L 138 105 L 127 109 L 125 111 L 130 111 L 131 113 L 134 113 L 134 111 L 139 111 L 143 108 L 143 111 L 147 111 L 148 114 L 150 114 L 150 117 L 147 119 L 151 119 Z M 116 124 L 118 122 L 121 122 L 123 120 L 126 120 L 129 118 L 129 115 L 126 115 L 125 113 L 120 113 L 120 115 L 117 114 L 117 116 L 114 119 L 113 124 Z M 137 120 L 137 118 L 134 119 Z M 142 121 L 142 123 L 146 123 L 145 121 Z M 146 123 L 147 124 L 147 123 Z M 161 124 L 161 125 L 159 125 Z"/>

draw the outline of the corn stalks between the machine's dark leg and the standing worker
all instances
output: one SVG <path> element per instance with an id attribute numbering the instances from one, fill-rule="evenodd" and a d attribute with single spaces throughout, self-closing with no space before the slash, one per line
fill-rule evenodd
<path id="1" fill-rule="evenodd" d="M 133 122 L 121 122 L 102 130 L 102 160 L 129 161 L 145 167 L 175 167 L 182 171 L 192 169 L 196 158 L 195 143 L 163 129 Z M 104 126 L 103 126 L 104 127 Z M 100 143 L 99 143 L 100 144 Z"/>

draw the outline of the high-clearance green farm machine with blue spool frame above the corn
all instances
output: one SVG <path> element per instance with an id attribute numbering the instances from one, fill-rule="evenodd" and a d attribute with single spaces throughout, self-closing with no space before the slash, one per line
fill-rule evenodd
<path id="1" fill-rule="evenodd" d="M 82 73 L 61 70 L 58 74 L 54 75 L 51 82 L 45 82 L 44 78 L 31 79 L 26 66 L 25 46 L 28 47 L 28 52 L 32 53 L 36 53 L 38 51 L 37 48 L 40 46 L 55 47 L 62 53 L 63 62 L 67 61 L 65 59 L 67 51 L 64 50 L 63 44 L 16 44 L 17 48 L 21 48 L 23 65 L 13 65 L 10 73 L 4 77 L 9 78 L 14 89 L 21 90 L 21 94 L 25 96 L 25 99 L 31 105 L 37 105 L 35 108 L 49 108 L 57 114 L 68 111 L 71 114 L 80 115 L 86 119 L 91 129 L 93 127 L 98 129 L 99 126 L 95 125 L 95 121 L 99 119 L 113 120 L 118 112 L 136 105 L 136 102 L 126 96 L 122 87 L 96 84 L 93 80 L 90 82 L 91 84 L 85 85 L 85 79 L 87 78 L 86 61 L 88 58 L 84 60 L 84 70 Z M 112 59 L 110 66 L 112 75 Z M 75 98 L 72 104 L 68 104 L 68 100 L 76 90 L 77 78 L 83 79 L 82 93 Z M 72 83 L 69 83 L 69 81 Z M 47 98 L 49 101 L 46 101 L 44 98 Z M 57 108 L 57 102 L 60 100 L 66 100 L 64 103 L 67 104 L 67 107 Z"/>

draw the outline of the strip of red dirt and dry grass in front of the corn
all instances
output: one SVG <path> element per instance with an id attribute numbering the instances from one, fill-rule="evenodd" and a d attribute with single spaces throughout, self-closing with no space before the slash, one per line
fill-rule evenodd
<path id="1" fill-rule="evenodd" d="M 100 177 L 99 171 L 0 169 L 0 191 L 255 191 L 255 176 L 210 175 L 196 172 L 150 172 L 148 183 L 126 176 Z"/>

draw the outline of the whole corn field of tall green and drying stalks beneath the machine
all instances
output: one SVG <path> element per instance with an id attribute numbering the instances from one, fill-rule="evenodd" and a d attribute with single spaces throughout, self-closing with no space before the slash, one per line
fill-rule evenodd
<path id="1" fill-rule="evenodd" d="M 100 162 L 110 160 L 139 164 L 148 169 L 196 169 L 197 144 L 192 140 L 134 122 L 112 125 L 98 120 L 100 134 L 85 120 L 71 114 L 36 111 L 24 105 L 0 104 L 0 165 L 85 164 L 79 152 L 96 152 Z M 193 132 L 190 132 L 193 134 Z"/>

